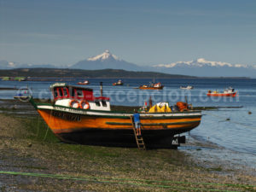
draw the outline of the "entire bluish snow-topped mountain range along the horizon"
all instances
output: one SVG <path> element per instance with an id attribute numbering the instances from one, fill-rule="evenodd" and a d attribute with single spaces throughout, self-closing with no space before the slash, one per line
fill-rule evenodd
<path id="1" fill-rule="evenodd" d="M 57 68 L 54 65 L 27 65 L 18 64 L 10 61 L 0 61 L 0 69 L 11 68 L 34 68 L 47 67 Z M 63 67 L 62 67 L 63 68 Z M 177 61 L 167 64 L 156 64 L 150 67 L 139 66 L 137 64 L 119 59 L 118 56 L 111 54 L 107 49 L 102 54 L 89 57 L 79 61 L 69 67 L 71 69 L 123 69 L 129 71 L 160 72 L 171 74 L 182 74 L 198 77 L 251 77 L 256 78 L 256 66 L 245 64 L 231 64 L 223 61 L 207 61 L 198 58 L 193 61 Z"/>

